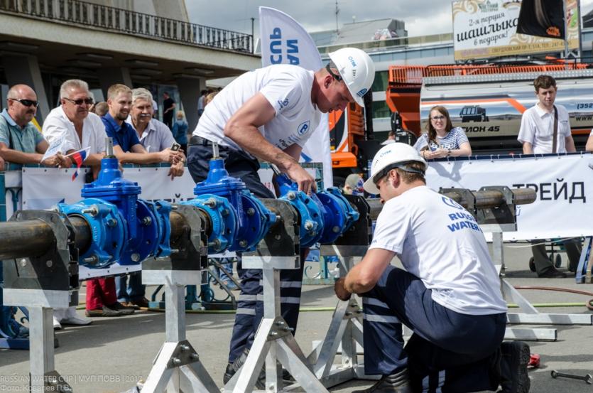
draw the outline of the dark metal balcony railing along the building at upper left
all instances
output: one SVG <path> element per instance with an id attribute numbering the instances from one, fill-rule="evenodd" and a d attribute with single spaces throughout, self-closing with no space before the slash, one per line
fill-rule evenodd
<path id="1" fill-rule="evenodd" d="M 0 0 L 0 13 L 253 53 L 253 36 L 80 0 Z"/>

